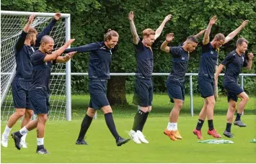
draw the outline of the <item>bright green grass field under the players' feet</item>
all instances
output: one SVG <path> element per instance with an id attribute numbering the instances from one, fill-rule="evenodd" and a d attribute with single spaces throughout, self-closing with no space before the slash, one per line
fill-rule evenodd
<path id="1" fill-rule="evenodd" d="M 131 103 L 131 95 L 127 96 Z M 189 98 L 189 97 L 187 97 Z M 47 122 L 45 147 L 50 155 L 38 155 L 35 131 L 27 135 L 28 149 L 17 150 L 9 137 L 9 147 L 1 147 L 1 163 L 256 163 L 256 144 L 250 141 L 256 137 L 255 98 L 250 99 L 242 119 L 247 127 L 232 126 L 234 144 L 211 145 L 198 143 L 193 135 L 198 112 L 203 105 L 200 97 L 194 97 L 195 116 L 190 117 L 190 103 L 186 99 L 184 109 L 178 122 L 183 140 L 175 141 L 163 134 L 167 127 L 169 111 L 172 104 L 166 95 L 154 96 L 154 108 L 144 128 L 144 135 L 149 144 L 136 145 L 133 141 L 117 147 L 115 140 L 107 129 L 102 112 L 93 120 L 87 132 L 89 146 L 75 145 L 79 133 L 81 117 L 85 114 L 89 96 L 72 96 L 73 120 L 71 122 Z M 226 127 L 226 98 L 216 102 L 214 127 L 222 134 Z M 126 131 L 131 129 L 136 106 L 112 106 L 118 132 L 128 137 Z M 1 122 L 3 132 L 6 122 Z M 13 130 L 19 129 L 18 124 Z M 207 122 L 202 132 L 205 140 L 213 139 L 207 135 Z"/>

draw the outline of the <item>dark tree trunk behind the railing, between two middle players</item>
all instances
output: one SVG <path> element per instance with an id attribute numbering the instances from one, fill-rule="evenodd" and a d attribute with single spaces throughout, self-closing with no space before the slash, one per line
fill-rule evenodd
<path id="1" fill-rule="evenodd" d="M 125 80 L 125 76 L 111 76 L 107 82 L 107 99 L 110 105 L 128 104 L 125 96 Z"/>

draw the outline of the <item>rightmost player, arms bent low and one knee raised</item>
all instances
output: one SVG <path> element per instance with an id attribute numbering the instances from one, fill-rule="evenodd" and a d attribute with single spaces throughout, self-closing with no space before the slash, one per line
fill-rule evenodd
<path id="1" fill-rule="evenodd" d="M 231 124 L 234 118 L 234 111 L 236 111 L 238 97 L 241 101 L 238 104 L 237 117 L 234 121 L 234 125 L 246 127 L 246 124 L 241 120 L 241 115 L 249 97 L 244 92 L 244 89 L 241 86 L 238 86 L 238 76 L 242 71 L 242 67 L 246 67 L 247 69 L 252 68 L 252 59 L 254 58 L 254 55 L 252 53 L 248 53 L 248 60 L 244 55 L 247 50 L 247 44 L 248 41 L 246 39 L 243 37 L 239 38 L 237 40 L 237 49 L 226 55 L 226 58 L 224 58 L 221 65 L 219 65 L 215 75 L 215 83 L 217 83 L 219 73 L 221 73 L 221 70 L 226 66 L 223 86 L 227 91 L 229 109 L 226 113 L 226 130 L 223 135 L 229 138 L 234 137 L 231 134 Z"/>

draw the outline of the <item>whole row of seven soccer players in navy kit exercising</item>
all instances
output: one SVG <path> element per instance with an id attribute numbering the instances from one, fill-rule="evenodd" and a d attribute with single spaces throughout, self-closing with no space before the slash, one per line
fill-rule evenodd
<path id="1" fill-rule="evenodd" d="M 7 147 L 9 132 L 20 117 L 24 116 L 22 121 L 22 129 L 12 133 L 15 146 L 17 149 L 27 147 L 25 137 L 27 132 L 37 128 L 37 150 L 39 154 L 48 154 L 44 147 L 45 123 L 48 119 L 49 111 L 49 94 L 50 94 L 50 69 L 55 63 L 66 63 L 75 53 L 89 52 L 89 107 L 87 114 L 81 122 L 79 137 L 76 140 L 76 145 L 88 145 L 84 137 L 89 129 L 92 119 L 97 109 L 102 109 L 105 115 L 107 127 L 110 129 L 115 138 L 116 145 L 120 146 L 133 140 L 137 144 L 149 143 L 142 133 L 144 124 L 148 118 L 149 112 L 152 109 L 153 100 L 153 84 L 151 76 L 153 73 L 154 59 L 151 46 L 154 41 L 161 35 L 164 25 L 172 19 L 172 15 L 164 18 L 164 21 L 156 29 L 144 29 L 142 40 L 138 37 L 134 24 L 134 14 L 128 14 L 128 20 L 131 25 L 131 33 L 133 36 L 133 46 L 136 53 L 136 91 L 134 94 L 134 102 L 138 105 L 138 111 L 134 117 L 133 127 L 128 135 L 131 139 L 120 137 L 115 127 L 115 122 L 112 117 L 112 108 L 107 100 L 107 80 L 110 79 L 110 62 L 112 58 L 112 48 L 118 44 L 118 32 L 109 29 L 104 35 L 104 41 L 93 42 L 80 47 L 67 48 L 73 40 L 69 40 L 65 45 L 58 50 L 53 51 L 54 40 L 48 34 L 54 24 L 60 19 L 61 14 L 56 13 L 54 19 L 48 24 L 40 35 L 37 35 L 37 30 L 30 25 L 35 18 L 31 15 L 25 25 L 22 34 L 19 36 L 14 53 L 17 63 L 17 72 L 12 82 L 12 94 L 14 99 L 15 112 L 9 117 L 9 120 L 1 136 L 1 145 Z M 174 34 L 169 33 L 166 40 L 161 45 L 161 50 L 172 55 L 172 71 L 167 78 L 167 93 L 170 101 L 174 103 L 173 109 L 169 114 L 169 123 L 164 134 L 171 140 L 181 140 L 182 136 L 177 129 L 177 120 L 182 109 L 182 104 L 185 100 L 185 73 L 190 53 L 198 46 L 198 37 L 203 35 L 202 55 L 200 58 L 200 67 L 198 75 L 198 85 L 200 94 L 205 99 L 203 109 L 200 111 L 198 124 L 193 131 L 198 139 L 202 139 L 201 127 L 204 120 L 208 119 L 208 135 L 220 138 L 213 127 L 213 108 L 215 105 L 214 85 L 217 83 L 219 73 L 226 66 L 224 76 L 224 88 L 228 92 L 229 109 L 226 114 L 226 137 L 233 137 L 231 134 L 231 123 L 233 122 L 234 111 L 237 106 L 238 97 L 242 99 L 238 105 L 237 117 L 234 124 L 239 127 L 245 127 L 241 121 L 241 114 L 248 101 L 248 96 L 243 89 L 238 86 L 237 78 L 242 70 L 242 67 L 250 69 L 252 67 L 252 53 L 245 58 L 244 53 L 247 50 L 248 41 L 244 38 L 237 40 L 236 50 L 226 55 L 224 61 L 219 65 L 219 68 L 214 76 L 214 68 L 217 64 L 219 47 L 224 45 L 229 40 L 233 39 L 237 33 L 243 29 L 248 21 L 242 24 L 231 32 L 227 37 L 223 34 L 217 34 L 210 42 L 209 35 L 211 27 L 216 23 L 216 16 L 211 18 L 207 29 L 202 30 L 198 35 L 191 35 L 187 40 L 178 47 L 169 47 L 168 44 L 174 39 Z M 37 49 L 37 50 L 35 50 Z M 61 56 L 61 54 L 66 55 Z M 32 113 L 37 114 L 37 119 L 30 121 Z"/>

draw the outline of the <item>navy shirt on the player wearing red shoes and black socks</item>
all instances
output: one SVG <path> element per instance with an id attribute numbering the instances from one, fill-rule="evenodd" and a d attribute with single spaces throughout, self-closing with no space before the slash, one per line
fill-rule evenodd
<path id="1" fill-rule="evenodd" d="M 211 42 L 202 45 L 202 55 L 199 64 L 199 76 L 214 78 L 215 65 L 217 65 L 218 50 L 211 46 Z"/>

